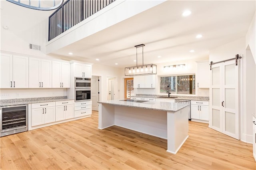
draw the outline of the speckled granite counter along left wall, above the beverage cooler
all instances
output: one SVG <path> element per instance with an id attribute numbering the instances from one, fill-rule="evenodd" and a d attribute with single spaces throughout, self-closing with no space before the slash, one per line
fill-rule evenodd
<path id="1" fill-rule="evenodd" d="M 0 100 L 0 106 L 25 105 L 25 104 L 31 104 L 31 103 L 45 103 L 45 102 L 66 101 L 66 100 L 74 100 L 74 99 L 67 99 L 66 96 L 5 99 L 5 100 Z"/>

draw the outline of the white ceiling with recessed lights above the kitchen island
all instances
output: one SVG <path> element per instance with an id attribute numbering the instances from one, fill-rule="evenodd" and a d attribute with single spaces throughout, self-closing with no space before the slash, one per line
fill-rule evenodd
<path id="1" fill-rule="evenodd" d="M 144 43 L 144 64 L 198 61 L 206 59 L 210 49 L 244 37 L 255 7 L 255 0 L 168 0 L 51 55 L 121 68 L 136 65 L 134 45 Z M 192 14 L 183 17 L 184 10 Z M 203 38 L 196 39 L 197 34 Z M 195 52 L 190 53 L 191 49 Z M 138 65 L 142 64 L 141 51 L 138 48 Z"/>

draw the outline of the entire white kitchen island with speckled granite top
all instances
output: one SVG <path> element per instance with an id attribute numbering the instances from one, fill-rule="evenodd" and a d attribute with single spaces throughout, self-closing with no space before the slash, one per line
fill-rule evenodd
<path id="1" fill-rule="evenodd" d="M 176 154 L 188 138 L 188 104 L 156 101 L 100 101 L 98 128 L 113 125 L 167 139 Z"/>

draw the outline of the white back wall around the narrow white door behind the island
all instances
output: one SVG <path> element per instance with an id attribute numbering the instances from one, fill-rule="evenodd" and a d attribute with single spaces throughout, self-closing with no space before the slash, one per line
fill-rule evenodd
<path id="1" fill-rule="evenodd" d="M 113 77 L 114 84 L 114 99 L 122 99 L 124 97 L 124 82 L 122 75 L 124 69 L 115 67 L 109 67 L 104 65 L 94 64 L 92 65 L 92 75 L 100 77 L 100 101 L 107 100 L 108 97 L 108 78 Z"/>

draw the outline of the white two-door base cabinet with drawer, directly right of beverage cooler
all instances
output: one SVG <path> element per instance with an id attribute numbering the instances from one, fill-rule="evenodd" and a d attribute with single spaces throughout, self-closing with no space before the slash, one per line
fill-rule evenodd
<path id="1" fill-rule="evenodd" d="M 55 102 L 32 104 L 32 127 L 52 122 L 55 122 Z"/>

